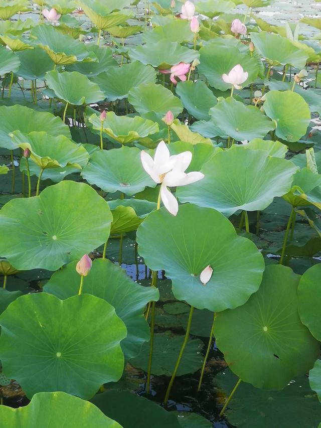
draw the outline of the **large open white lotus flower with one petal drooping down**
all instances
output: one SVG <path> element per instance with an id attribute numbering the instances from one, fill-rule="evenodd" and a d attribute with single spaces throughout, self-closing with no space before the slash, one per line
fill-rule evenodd
<path id="1" fill-rule="evenodd" d="M 171 156 L 167 145 L 161 141 L 156 148 L 154 159 L 143 150 L 140 153 L 140 158 L 144 170 L 152 180 L 157 184 L 162 183 L 161 199 L 166 209 L 171 214 L 177 215 L 179 204 L 167 186 L 186 186 L 204 177 L 204 174 L 197 171 L 185 172 L 192 161 L 192 153 L 183 152 Z"/>

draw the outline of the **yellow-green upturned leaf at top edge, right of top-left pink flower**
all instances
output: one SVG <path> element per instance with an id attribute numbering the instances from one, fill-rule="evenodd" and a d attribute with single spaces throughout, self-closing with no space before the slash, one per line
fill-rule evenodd
<path id="1" fill-rule="evenodd" d="M 98 2 L 78 2 L 78 4 L 90 21 L 92 21 L 99 30 L 108 30 L 108 28 L 123 24 L 131 18 L 130 15 L 117 13 L 111 14 L 111 10 L 107 10 L 107 6 L 99 4 Z M 108 8 L 110 8 L 110 6 L 108 6 Z"/>

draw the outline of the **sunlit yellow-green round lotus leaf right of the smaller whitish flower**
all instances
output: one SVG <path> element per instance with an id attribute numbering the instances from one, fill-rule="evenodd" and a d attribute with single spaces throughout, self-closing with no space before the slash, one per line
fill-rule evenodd
<path id="1" fill-rule="evenodd" d="M 290 91 L 270 91 L 265 95 L 265 113 L 275 121 L 275 134 L 286 141 L 297 141 L 311 120 L 308 104 Z"/>

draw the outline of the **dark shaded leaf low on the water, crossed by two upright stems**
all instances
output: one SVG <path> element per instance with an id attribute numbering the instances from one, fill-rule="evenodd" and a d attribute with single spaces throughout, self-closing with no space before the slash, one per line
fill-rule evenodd
<path id="1" fill-rule="evenodd" d="M 1 319 L 1 318 L 0 318 Z M 171 376 L 180 353 L 185 336 L 173 335 L 172 332 L 155 333 L 152 354 L 151 373 L 156 376 Z M 1 342 L 0 342 L 1 343 Z M 182 357 L 177 376 L 195 373 L 202 367 L 203 342 L 200 339 L 189 339 Z M 1 355 L 1 354 L 0 354 Z M 166 358 L 164 356 L 166 355 Z M 147 371 L 149 343 L 145 342 L 139 355 L 130 360 L 134 367 Z"/>

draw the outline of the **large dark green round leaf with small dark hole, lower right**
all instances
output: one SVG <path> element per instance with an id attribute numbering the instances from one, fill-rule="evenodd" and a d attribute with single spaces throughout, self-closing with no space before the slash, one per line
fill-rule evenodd
<path id="1" fill-rule="evenodd" d="M 299 276 L 282 265 L 265 267 L 259 290 L 245 305 L 217 314 L 214 336 L 231 370 L 262 389 L 282 389 L 305 374 L 319 343 L 297 312 Z"/>

